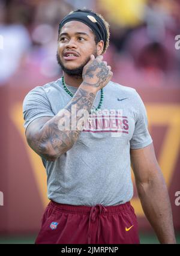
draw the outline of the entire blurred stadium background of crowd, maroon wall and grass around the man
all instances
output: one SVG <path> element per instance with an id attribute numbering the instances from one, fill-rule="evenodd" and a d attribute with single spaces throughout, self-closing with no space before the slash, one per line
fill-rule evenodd
<path id="1" fill-rule="evenodd" d="M 136 88 L 145 102 L 180 243 L 180 206 L 175 203 L 180 190 L 179 0 L 0 1 L 0 243 L 34 243 L 40 228 L 48 203 L 46 174 L 25 141 L 22 101 L 32 88 L 61 76 L 56 62 L 58 23 L 83 7 L 103 14 L 110 23 L 104 59 L 112 66 L 112 80 Z M 141 242 L 158 243 L 136 187 L 132 204 Z"/>

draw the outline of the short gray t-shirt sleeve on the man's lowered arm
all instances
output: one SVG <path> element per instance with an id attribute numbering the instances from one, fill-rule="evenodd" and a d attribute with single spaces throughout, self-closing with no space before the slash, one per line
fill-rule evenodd
<path id="1" fill-rule="evenodd" d="M 137 92 L 134 103 L 135 108 L 137 109 L 137 117 L 134 127 L 134 133 L 130 140 L 130 148 L 138 149 L 151 144 L 152 138 L 148 131 L 148 118 L 145 105 L 143 104 L 143 101 Z"/>

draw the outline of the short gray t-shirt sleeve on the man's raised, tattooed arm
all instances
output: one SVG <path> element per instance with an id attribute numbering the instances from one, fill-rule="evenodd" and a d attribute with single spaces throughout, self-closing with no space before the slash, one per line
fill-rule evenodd
<path id="1" fill-rule="evenodd" d="M 35 87 L 23 100 L 23 118 L 25 129 L 38 117 L 53 117 L 50 102 L 43 87 Z"/>

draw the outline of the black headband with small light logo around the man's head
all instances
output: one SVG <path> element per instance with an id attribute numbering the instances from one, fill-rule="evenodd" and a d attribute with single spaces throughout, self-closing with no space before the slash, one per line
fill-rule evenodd
<path id="1" fill-rule="evenodd" d="M 77 11 L 77 12 L 68 14 L 67 16 L 64 17 L 64 19 L 61 20 L 61 23 L 59 24 L 59 32 L 61 31 L 62 26 L 64 26 L 65 23 L 70 22 L 71 20 L 77 20 L 85 23 L 95 33 L 97 40 L 98 41 L 103 40 L 104 47 L 106 46 L 107 29 L 106 29 L 106 26 L 104 25 L 103 20 L 100 17 L 98 17 L 96 14 L 85 13 L 83 11 Z"/>

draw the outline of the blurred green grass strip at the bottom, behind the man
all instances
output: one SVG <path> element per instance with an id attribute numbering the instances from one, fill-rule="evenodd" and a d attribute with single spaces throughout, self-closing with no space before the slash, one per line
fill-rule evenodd
<path id="1" fill-rule="evenodd" d="M 0 244 L 31 244 L 35 241 L 34 236 L 0 236 Z M 180 244 L 180 233 L 176 236 L 177 243 Z M 154 234 L 140 233 L 140 243 L 155 244 L 159 243 Z"/>

